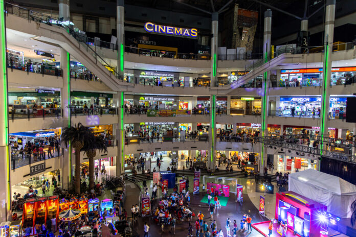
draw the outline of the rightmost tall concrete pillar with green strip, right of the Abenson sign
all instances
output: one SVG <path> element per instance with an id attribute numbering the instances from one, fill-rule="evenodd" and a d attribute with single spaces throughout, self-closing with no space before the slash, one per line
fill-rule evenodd
<path id="1" fill-rule="evenodd" d="M 324 31 L 323 92 L 321 99 L 321 126 L 319 134 L 328 137 L 328 113 L 330 101 L 331 54 L 335 21 L 335 0 L 326 0 Z M 323 149 L 323 145 L 320 146 Z M 320 169 L 320 167 L 319 167 Z"/>

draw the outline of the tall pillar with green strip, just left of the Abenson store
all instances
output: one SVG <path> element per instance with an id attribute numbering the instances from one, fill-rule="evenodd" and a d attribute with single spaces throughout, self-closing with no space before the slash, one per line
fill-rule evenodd
<path id="1" fill-rule="evenodd" d="M 268 62 L 271 54 L 271 30 L 272 30 L 272 11 L 270 9 L 264 12 L 264 24 L 263 24 L 263 58 L 264 62 Z M 262 114 L 261 114 L 261 136 L 268 136 L 267 130 L 267 115 L 268 115 L 268 81 L 270 78 L 270 72 L 265 72 L 263 74 L 262 83 Z M 259 159 L 259 171 L 263 174 L 264 164 L 267 159 L 267 150 L 261 144 L 261 154 Z"/>

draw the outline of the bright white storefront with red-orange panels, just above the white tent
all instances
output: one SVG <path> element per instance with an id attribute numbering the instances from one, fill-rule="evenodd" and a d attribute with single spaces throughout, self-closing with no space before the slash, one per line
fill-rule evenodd
<path id="1" fill-rule="evenodd" d="M 307 169 L 317 170 L 317 161 L 313 159 L 277 155 L 278 172 L 294 173 L 296 169 L 298 169 L 299 171 Z"/>

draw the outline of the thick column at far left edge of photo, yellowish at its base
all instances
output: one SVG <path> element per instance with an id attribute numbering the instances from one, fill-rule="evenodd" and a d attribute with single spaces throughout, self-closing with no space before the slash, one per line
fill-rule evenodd
<path id="1" fill-rule="evenodd" d="M 10 146 L 8 113 L 8 80 L 6 67 L 6 23 L 4 1 L 0 0 L 0 221 L 11 221 Z"/>

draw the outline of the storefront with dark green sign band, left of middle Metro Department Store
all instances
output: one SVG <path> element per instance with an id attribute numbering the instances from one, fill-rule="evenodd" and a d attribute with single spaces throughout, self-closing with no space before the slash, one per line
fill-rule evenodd
<path id="1" fill-rule="evenodd" d="M 83 108 L 86 105 L 88 108 L 93 105 L 95 108 L 114 108 L 113 94 L 96 93 L 85 91 L 71 92 L 72 107 Z"/>

